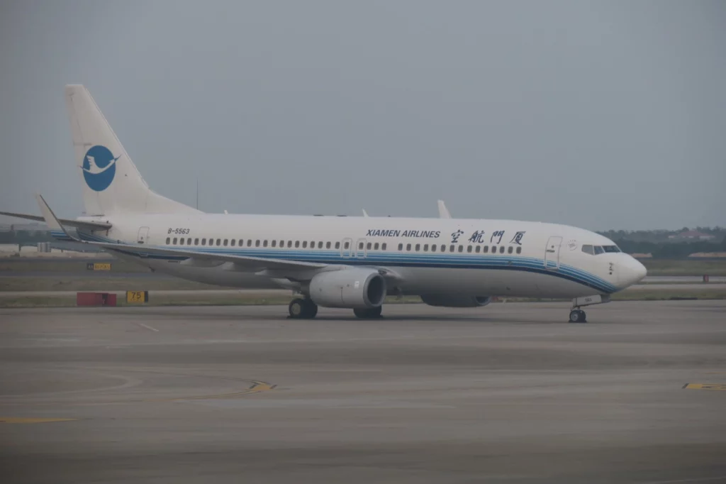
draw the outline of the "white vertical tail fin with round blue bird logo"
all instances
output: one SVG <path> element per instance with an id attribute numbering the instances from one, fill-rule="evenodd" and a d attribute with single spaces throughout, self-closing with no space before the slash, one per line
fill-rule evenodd
<path id="1" fill-rule="evenodd" d="M 86 214 L 197 211 L 150 190 L 85 86 L 65 86 L 65 105 Z"/>

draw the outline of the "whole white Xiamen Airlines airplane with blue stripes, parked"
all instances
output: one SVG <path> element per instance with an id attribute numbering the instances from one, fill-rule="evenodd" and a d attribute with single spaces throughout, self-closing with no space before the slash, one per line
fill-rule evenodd
<path id="1" fill-rule="evenodd" d="M 78 240 L 160 273 L 220 286 L 291 289 L 292 318 L 319 306 L 381 315 L 387 294 L 444 307 L 492 297 L 567 298 L 569 319 L 637 283 L 645 267 L 608 238 L 576 227 L 516 220 L 206 214 L 154 193 L 91 94 L 65 87 L 86 216 L 57 219 L 37 195 L 54 237 Z M 99 159 L 100 158 L 100 159 Z M 74 227 L 76 235 L 67 230 Z"/>

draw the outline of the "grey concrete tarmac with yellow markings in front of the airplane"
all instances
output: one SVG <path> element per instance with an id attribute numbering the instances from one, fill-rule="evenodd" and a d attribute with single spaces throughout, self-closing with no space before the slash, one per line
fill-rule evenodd
<path id="1" fill-rule="evenodd" d="M 0 310 L 3 483 L 726 483 L 726 302 Z"/>

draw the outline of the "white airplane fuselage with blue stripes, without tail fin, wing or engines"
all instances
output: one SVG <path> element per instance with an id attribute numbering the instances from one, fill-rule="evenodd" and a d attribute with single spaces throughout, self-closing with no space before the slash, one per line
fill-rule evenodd
<path id="1" fill-rule="evenodd" d="M 394 217 L 237 214 L 124 214 L 89 220 L 113 227 L 79 232 L 89 241 L 129 244 L 118 254 L 161 273 L 221 286 L 280 288 L 269 275 L 233 264 L 189 265 L 185 257 L 144 254 L 144 247 L 194 249 L 330 265 L 385 266 L 401 276 L 396 294 L 582 297 L 632 283 L 627 254 L 588 230 L 541 222 Z M 635 262 L 637 264 L 637 262 Z"/>

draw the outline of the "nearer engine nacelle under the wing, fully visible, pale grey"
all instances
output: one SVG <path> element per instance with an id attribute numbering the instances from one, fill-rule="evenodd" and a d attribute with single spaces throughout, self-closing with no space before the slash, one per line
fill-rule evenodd
<path id="1" fill-rule="evenodd" d="M 351 267 L 314 275 L 310 299 L 323 307 L 378 307 L 386 298 L 386 279 L 375 269 Z"/>

